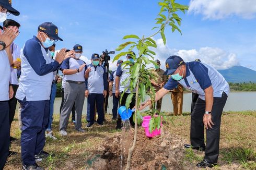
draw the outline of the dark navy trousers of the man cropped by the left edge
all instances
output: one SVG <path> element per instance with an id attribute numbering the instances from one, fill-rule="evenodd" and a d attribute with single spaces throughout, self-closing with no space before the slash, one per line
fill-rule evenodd
<path id="1" fill-rule="evenodd" d="M 5 166 L 9 154 L 10 125 L 8 101 L 0 101 L 0 169 Z"/>

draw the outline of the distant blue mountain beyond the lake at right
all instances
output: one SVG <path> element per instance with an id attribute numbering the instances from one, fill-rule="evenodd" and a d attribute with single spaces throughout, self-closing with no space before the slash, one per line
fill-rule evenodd
<path id="1" fill-rule="evenodd" d="M 234 66 L 225 70 L 218 70 L 227 82 L 256 82 L 256 71 L 243 66 Z"/>

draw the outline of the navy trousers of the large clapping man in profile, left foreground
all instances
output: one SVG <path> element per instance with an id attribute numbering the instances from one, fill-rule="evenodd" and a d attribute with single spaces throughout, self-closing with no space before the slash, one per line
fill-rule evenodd
<path id="1" fill-rule="evenodd" d="M 39 154 L 45 144 L 45 128 L 48 124 L 50 101 L 23 101 L 21 105 L 21 159 L 25 165 L 36 163 L 34 155 Z"/>

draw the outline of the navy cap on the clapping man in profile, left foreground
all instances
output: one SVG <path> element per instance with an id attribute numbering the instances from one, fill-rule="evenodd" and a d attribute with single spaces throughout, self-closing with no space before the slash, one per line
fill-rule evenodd
<path id="1" fill-rule="evenodd" d="M 38 30 L 46 33 L 49 35 L 54 40 L 61 40 L 63 41 L 59 36 L 58 36 L 58 28 L 55 26 L 52 22 L 43 22 L 40 26 L 38 26 Z"/>

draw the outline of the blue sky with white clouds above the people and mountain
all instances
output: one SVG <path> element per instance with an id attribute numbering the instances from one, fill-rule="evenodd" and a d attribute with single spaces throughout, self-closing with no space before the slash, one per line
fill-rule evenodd
<path id="1" fill-rule="evenodd" d="M 171 55 L 181 56 L 185 62 L 200 58 L 216 69 L 245 66 L 256 70 L 256 1 L 255 0 L 176 0 L 188 5 L 189 11 L 179 14 L 181 31 L 172 33 L 166 28 L 167 44 L 154 37 L 158 48 L 155 59 L 162 63 Z M 149 0 L 13 0 L 20 16 L 8 16 L 21 25 L 15 43 L 23 47 L 37 34 L 38 26 L 46 21 L 59 28 L 56 50 L 83 46 L 87 64 L 93 53 L 114 51 L 124 35 L 148 36 L 154 33 L 158 1 Z M 116 52 L 117 54 L 118 52 Z M 110 69 L 115 69 L 111 55 Z M 125 59 L 125 58 L 123 58 Z"/>

